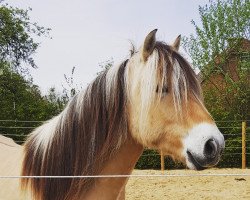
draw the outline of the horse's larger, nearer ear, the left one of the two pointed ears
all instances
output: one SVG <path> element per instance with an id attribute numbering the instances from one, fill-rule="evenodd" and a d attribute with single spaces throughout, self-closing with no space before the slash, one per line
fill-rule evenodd
<path id="1" fill-rule="evenodd" d="M 143 43 L 143 51 L 142 51 L 142 58 L 143 61 L 146 62 L 148 57 L 151 55 L 151 53 L 153 52 L 154 48 L 155 48 L 155 34 L 157 32 L 157 29 L 154 29 L 153 31 L 151 31 L 147 37 L 144 40 Z"/>

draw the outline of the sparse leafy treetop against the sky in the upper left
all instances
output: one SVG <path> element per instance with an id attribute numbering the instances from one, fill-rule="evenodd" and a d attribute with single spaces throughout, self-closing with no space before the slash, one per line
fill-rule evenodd
<path id="1" fill-rule="evenodd" d="M 0 62 L 10 63 L 13 70 L 22 73 L 28 70 L 22 63 L 36 68 L 33 55 L 39 43 L 33 37 L 47 36 L 50 29 L 31 22 L 31 9 L 13 8 L 3 1 L 0 5 Z"/>

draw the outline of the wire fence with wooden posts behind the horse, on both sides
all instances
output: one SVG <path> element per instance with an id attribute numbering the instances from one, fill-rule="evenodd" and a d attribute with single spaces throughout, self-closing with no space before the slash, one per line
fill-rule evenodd
<path id="1" fill-rule="evenodd" d="M 242 121 L 217 121 L 220 131 L 223 133 L 226 146 L 218 167 L 241 167 L 250 166 L 250 120 Z M 22 144 L 26 135 L 39 126 L 42 121 L 0 120 L 0 134 L 11 137 L 16 143 Z M 173 162 L 169 157 L 161 153 L 146 149 L 136 168 L 161 169 L 162 171 L 173 168 L 185 168 L 181 163 Z"/>

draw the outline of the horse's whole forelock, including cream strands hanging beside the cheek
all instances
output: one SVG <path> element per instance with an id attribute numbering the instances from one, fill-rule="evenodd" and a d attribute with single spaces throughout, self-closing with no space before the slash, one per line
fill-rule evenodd
<path id="1" fill-rule="evenodd" d="M 146 62 L 140 59 L 140 54 L 134 55 L 128 68 L 130 73 L 126 76 L 128 99 L 140 96 L 137 105 L 139 109 L 139 132 L 147 133 L 147 121 L 152 105 L 160 103 L 164 87 L 172 93 L 176 114 L 181 117 L 188 97 L 193 96 L 201 102 L 201 89 L 197 76 L 190 64 L 173 47 L 164 42 L 157 41 L 152 54 Z M 133 66 L 132 66 L 133 65 Z M 138 68 L 138 66 L 141 66 Z M 156 92 L 156 90 L 158 92 Z M 133 102 L 133 101 L 131 101 Z M 143 138 L 141 138 L 143 139 Z"/>

